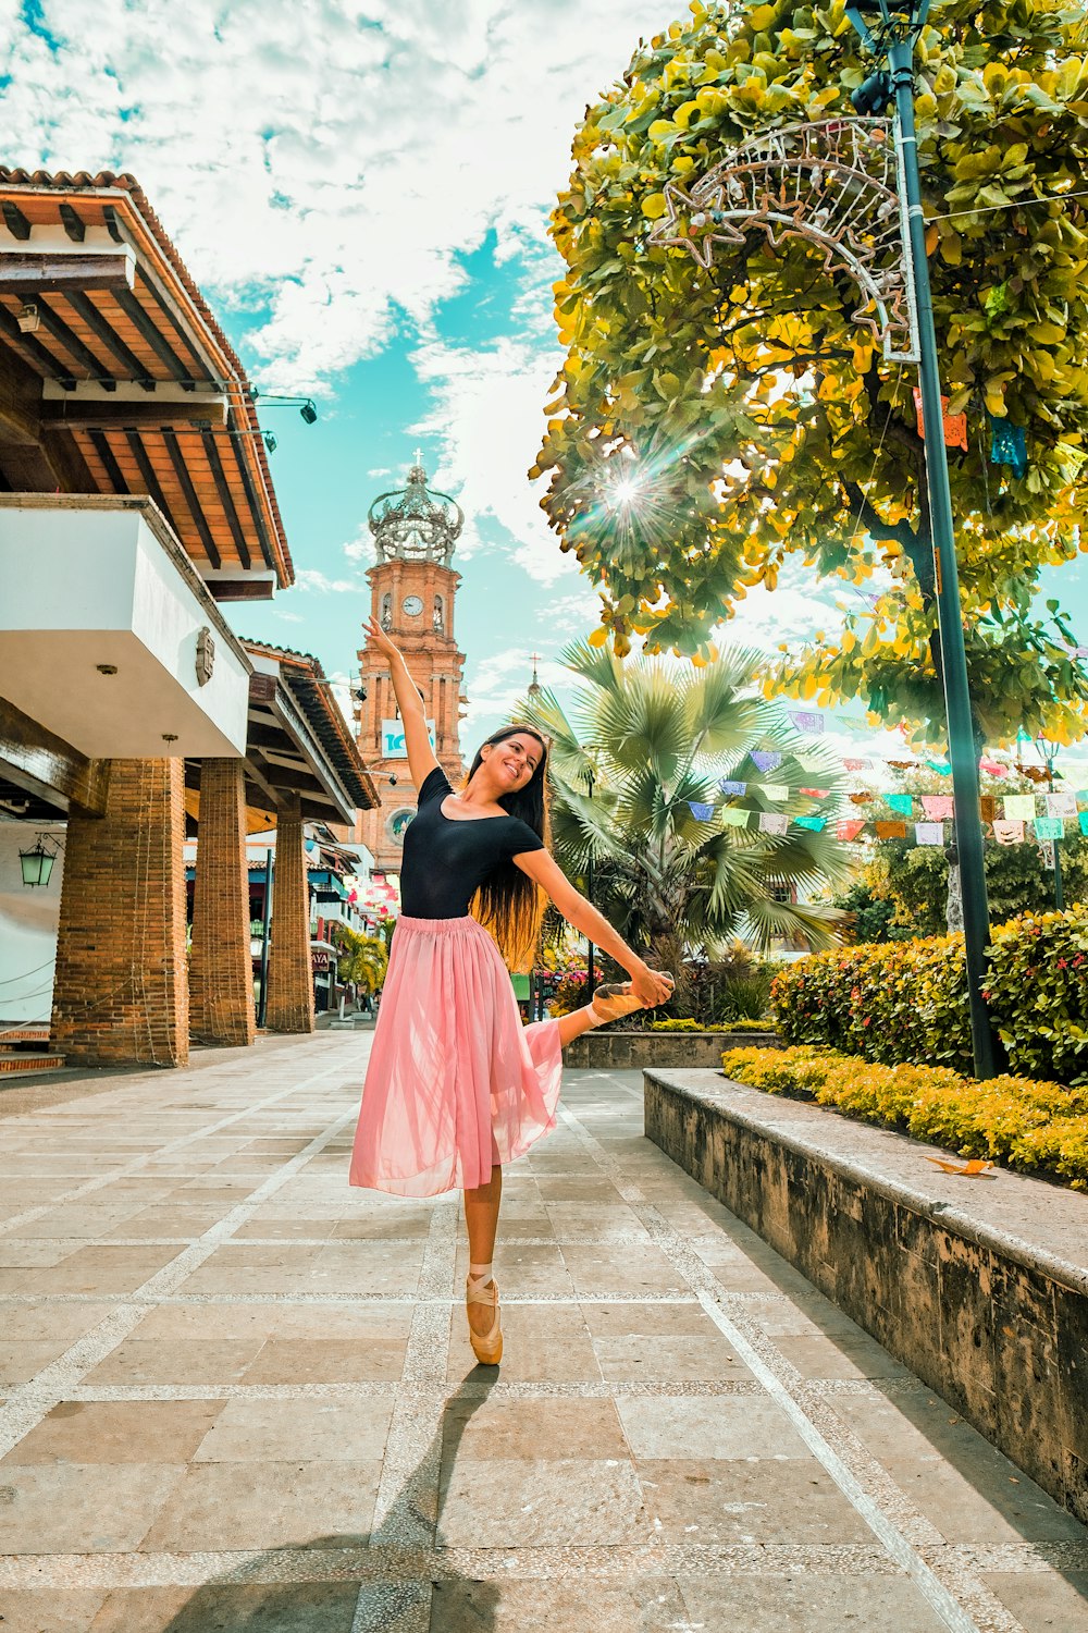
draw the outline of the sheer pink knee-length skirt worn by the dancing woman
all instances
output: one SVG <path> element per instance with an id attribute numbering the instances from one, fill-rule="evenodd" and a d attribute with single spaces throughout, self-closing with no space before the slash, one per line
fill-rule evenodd
<path id="1" fill-rule="evenodd" d="M 522 1026 L 499 949 L 471 918 L 400 918 L 362 1091 L 351 1184 L 471 1190 L 555 1128 L 559 1026 Z"/>

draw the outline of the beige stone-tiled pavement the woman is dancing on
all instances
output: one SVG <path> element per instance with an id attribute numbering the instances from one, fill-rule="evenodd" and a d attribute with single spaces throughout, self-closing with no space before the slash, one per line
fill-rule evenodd
<path id="1" fill-rule="evenodd" d="M 638 1073 L 507 1171 L 476 1368 L 457 1199 L 346 1186 L 367 1047 L 0 1094 L 0 1633 L 1088 1628 L 1083 1528 L 643 1138 Z"/>

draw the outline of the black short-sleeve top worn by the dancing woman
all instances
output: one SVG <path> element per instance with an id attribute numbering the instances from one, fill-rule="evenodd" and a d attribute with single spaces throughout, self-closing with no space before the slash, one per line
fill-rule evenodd
<path id="1" fill-rule="evenodd" d="M 512 856 L 543 851 L 540 834 L 519 816 L 442 815 L 453 789 L 440 766 L 424 777 L 416 815 L 405 830 L 401 913 L 408 918 L 463 918 L 484 879 Z"/>

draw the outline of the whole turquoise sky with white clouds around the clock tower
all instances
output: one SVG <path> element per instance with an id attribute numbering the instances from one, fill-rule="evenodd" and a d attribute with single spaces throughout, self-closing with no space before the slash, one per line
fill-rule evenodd
<path id="1" fill-rule="evenodd" d="M 595 624 L 595 594 L 548 532 L 525 470 L 558 367 L 546 214 L 586 103 L 652 0 L 29 0 L 0 10 L 3 162 L 130 170 L 266 392 L 299 572 L 241 634 L 316 653 L 346 683 L 369 609 L 367 506 L 413 449 L 467 526 L 457 637 L 463 750 L 509 717 L 542 653 Z M 1081 557 L 1083 562 L 1083 557 Z M 1052 593 L 1088 640 L 1080 565 Z M 796 565 L 729 637 L 773 648 L 835 624 L 842 586 Z M 848 594 L 848 591 L 847 591 Z M 899 741 L 837 732 L 879 758 Z"/>

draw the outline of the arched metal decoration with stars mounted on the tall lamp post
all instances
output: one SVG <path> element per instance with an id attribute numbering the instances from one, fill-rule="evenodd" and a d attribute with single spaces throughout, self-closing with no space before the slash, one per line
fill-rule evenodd
<path id="1" fill-rule="evenodd" d="M 754 227 L 778 248 L 804 238 L 845 271 L 889 363 L 918 361 L 913 268 L 897 129 L 887 119 L 820 119 L 768 131 L 687 186 L 667 181 L 666 214 L 651 243 L 688 250 L 710 266 L 714 245 L 745 242 Z"/>

